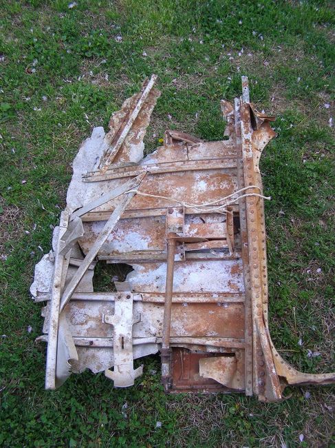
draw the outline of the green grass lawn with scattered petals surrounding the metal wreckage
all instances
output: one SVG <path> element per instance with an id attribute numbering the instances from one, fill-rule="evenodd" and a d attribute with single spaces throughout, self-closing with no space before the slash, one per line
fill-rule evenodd
<path id="1" fill-rule="evenodd" d="M 272 338 L 299 369 L 334 371 L 332 2 L 68 3 L 1 4 L 0 445 L 334 446 L 334 387 L 288 389 L 291 398 L 272 405 L 241 395 L 166 396 L 153 357 L 130 389 L 86 372 L 45 391 L 45 347 L 34 342 L 41 307 L 28 294 L 65 205 L 70 163 L 91 128 L 107 128 L 111 112 L 156 73 L 162 96 L 147 150 L 166 128 L 220 139 L 219 100 L 238 96 L 247 74 L 252 101 L 277 115 L 277 139 L 261 161 L 272 196 Z"/>

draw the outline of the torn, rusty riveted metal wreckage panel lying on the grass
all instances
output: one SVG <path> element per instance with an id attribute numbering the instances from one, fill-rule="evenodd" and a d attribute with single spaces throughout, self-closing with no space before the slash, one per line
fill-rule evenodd
<path id="1" fill-rule="evenodd" d="M 277 401 L 286 385 L 334 383 L 291 367 L 270 339 L 259 159 L 274 118 L 257 112 L 242 77 L 241 97 L 221 101 L 226 139 L 167 130 L 144 157 L 155 78 L 80 147 L 52 251 L 36 265 L 46 389 L 85 369 L 129 387 L 142 374 L 133 360 L 158 352 L 166 392 Z M 99 292 L 97 263 L 133 270 Z"/>

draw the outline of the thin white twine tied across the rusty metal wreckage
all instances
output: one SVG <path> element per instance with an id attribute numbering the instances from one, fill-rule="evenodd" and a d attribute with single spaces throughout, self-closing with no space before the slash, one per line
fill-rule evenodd
<path id="1" fill-rule="evenodd" d="M 255 196 L 255 197 L 267 199 L 268 201 L 270 201 L 270 199 L 271 199 L 270 196 L 263 196 L 263 194 L 259 194 L 259 193 L 245 193 L 245 194 L 241 194 L 240 196 L 237 196 L 241 192 L 249 190 L 250 188 L 257 188 L 257 190 L 261 191 L 261 188 L 258 185 L 250 185 L 249 187 L 241 188 L 240 190 L 237 190 L 236 192 L 234 192 L 232 194 L 228 194 L 228 196 L 224 196 L 223 198 L 215 199 L 214 201 L 205 202 L 205 203 L 201 203 L 201 204 L 187 203 L 187 202 L 181 201 L 180 199 L 176 199 L 176 198 L 172 198 L 172 197 L 168 197 L 168 196 L 160 196 L 158 194 L 143 193 L 143 192 L 139 192 L 138 190 L 128 190 L 127 192 L 125 192 L 125 194 L 135 193 L 135 194 L 138 194 L 139 196 L 147 196 L 150 198 L 166 199 L 166 201 L 173 201 L 175 203 L 182 205 L 185 208 L 193 208 L 197 212 L 205 212 L 205 213 L 216 212 L 216 213 L 224 214 L 224 213 L 230 213 L 228 210 L 226 210 L 225 207 L 228 207 L 229 205 L 233 205 L 233 204 L 237 203 L 237 201 L 239 201 L 240 199 L 247 198 L 249 196 Z M 237 196 L 237 197 L 234 198 L 234 196 Z M 227 202 L 227 200 L 229 198 L 232 198 L 232 200 Z M 217 204 L 219 202 L 225 202 L 225 203 L 215 206 L 215 204 Z M 213 207 L 211 207 L 211 205 Z"/>

